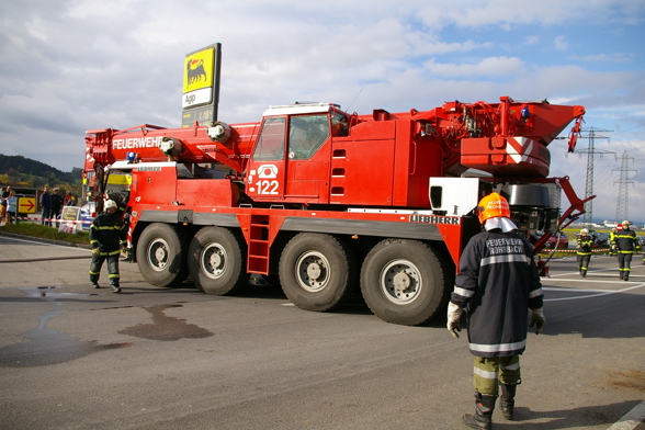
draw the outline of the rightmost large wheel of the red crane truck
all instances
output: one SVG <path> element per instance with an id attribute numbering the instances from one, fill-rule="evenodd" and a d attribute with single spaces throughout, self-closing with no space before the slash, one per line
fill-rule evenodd
<path id="1" fill-rule="evenodd" d="M 385 239 L 365 257 L 361 292 L 378 318 L 417 326 L 443 310 L 449 291 L 444 271 L 428 245 Z"/>

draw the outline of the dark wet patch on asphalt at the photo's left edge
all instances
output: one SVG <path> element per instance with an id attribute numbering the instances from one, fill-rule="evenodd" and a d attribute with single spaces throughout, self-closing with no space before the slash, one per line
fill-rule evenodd
<path id="1" fill-rule="evenodd" d="M 47 321 L 64 315 L 63 310 L 50 310 L 38 317 L 39 325 L 23 337 L 26 342 L 0 348 L 0 366 L 33 367 L 58 364 L 80 359 L 94 352 L 132 347 L 132 342 L 99 344 L 95 340 L 87 341 L 46 328 Z"/>

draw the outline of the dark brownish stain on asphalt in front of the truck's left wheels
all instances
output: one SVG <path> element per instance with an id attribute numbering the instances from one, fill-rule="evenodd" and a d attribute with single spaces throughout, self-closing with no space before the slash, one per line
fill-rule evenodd
<path id="1" fill-rule="evenodd" d="M 166 316 L 163 312 L 171 307 L 182 307 L 182 305 L 144 307 L 145 310 L 152 315 L 152 324 L 139 324 L 118 332 L 150 340 L 201 339 L 213 336 L 211 331 L 204 328 L 194 324 L 186 324 L 185 319 Z"/>

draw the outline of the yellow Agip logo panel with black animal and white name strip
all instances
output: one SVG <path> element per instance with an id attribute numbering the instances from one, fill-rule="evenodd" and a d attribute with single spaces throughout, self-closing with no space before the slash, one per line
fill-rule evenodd
<path id="1" fill-rule="evenodd" d="M 215 48 L 207 48 L 186 56 L 182 108 L 207 104 L 213 101 L 214 60 Z"/>

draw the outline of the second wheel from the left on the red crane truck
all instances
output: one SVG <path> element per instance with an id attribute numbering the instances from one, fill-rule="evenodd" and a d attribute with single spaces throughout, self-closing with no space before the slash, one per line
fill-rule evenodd
<path id="1" fill-rule="evenodd" d="M 197 231 L 189 249 L 189 271 L 200 290 L 224 295 L 248 284 L 247 256 L 241 242 L 244 239 L 227 228 L 204 227 Z"/>

